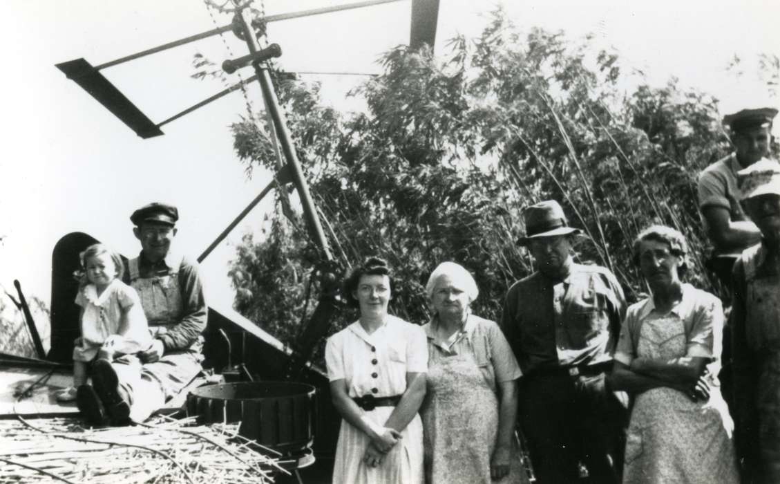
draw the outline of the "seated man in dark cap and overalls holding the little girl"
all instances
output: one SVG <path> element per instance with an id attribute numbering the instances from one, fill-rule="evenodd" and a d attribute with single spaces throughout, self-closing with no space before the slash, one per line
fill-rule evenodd
<path id="1" fill-rule="evenodd" d="M 178 219 L 176 207 L 162 203 L 130 215 L 141 251 L 129 260 L 125 282 L 140 296 L 154 343 L 140 354 L 140 371 L 122 361 L 94 363 L 94 391 L 78 395 L 87 419 L 99 422 L 105 411 L 115 425 L 143 422 L 200 372 L 207 307 L 197 262 L 171 251 Z"/>

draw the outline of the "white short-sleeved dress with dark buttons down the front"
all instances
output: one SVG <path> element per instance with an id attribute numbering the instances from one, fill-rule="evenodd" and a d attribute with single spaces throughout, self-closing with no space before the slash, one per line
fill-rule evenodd
<path id="1" fill-rule="evenodd" d="M 385 326 L 371 335 L 353 322 L 328 339 L 325 362 L 328 379 L 346 380 L 349 397 L 394 397 L 406 391 L 406 373 L 427 371 L 427 339 L 422 327 L 388 315 Z M 376 375 L 376 376 L 374 376 Z M 384 426 L 395 407 L 364 411 L 377 425 Z M 422 484 L 423 425 L 415 415 L 402 439 L 385 455 L 378 467 L 368 467 L 363 456 L 369 437 L 342 419 L 336 446 L 332 482 L 356 484 Z"/>

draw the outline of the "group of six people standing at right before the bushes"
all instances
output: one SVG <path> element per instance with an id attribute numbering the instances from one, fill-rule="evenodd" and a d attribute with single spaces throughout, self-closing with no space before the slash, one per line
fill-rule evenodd
<path id="1" fill-rule="evenodd" d="M 626 308 L 612 272 L 574 261 L 584 236 L 557 201 L 523 212 L 517 243 L 537 270 L 509 287 L 500 326 L 472 314 L 477 284 L 454 262 L 428 279 L 424 326 L 388 314 L 383 260 L 353 269 L 344 294 L 360 318 L 325 351 L 342 415 L 333 482 L 527 482 L 516 428 L 543 484 L 780 482 L 776 114 L 726 116 L 736 151 L 700 175 L 709 266 L 733 294 L 728 325 L 718 297 L 683 282 L 691 254 L 678 230 L 636 237 L 651 295 Z"/>

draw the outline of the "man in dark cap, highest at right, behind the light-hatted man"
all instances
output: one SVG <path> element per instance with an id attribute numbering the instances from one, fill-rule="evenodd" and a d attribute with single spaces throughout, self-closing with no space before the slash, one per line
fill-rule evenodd
<path id="1" fill-rule="evenodd" d="M 739 253 L 761 239 L 739 204 L 736 173 L 769 155 L 774 108 L 742 109 L 723 118 L 734 152 L 699 174 L 699 210 L 714 246 L 708 266 L 730 286 L 732 265 Z"/>

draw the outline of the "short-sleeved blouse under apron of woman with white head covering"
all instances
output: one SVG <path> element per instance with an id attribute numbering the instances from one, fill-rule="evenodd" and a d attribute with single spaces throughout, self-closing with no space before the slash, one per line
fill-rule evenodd
<path id="1" fill-rule="evenodd" d="M 423 326 L 428 340 L 429 366 L 458 354 L 468 355 L 473 358 L 485 383 L 494 392 L 498 383 L 511 382 L 523 375 L 512 348 L 495 322 L 470 314 L 463 327 L 445 341 L 437 339 L 435 325 L 438 325 L 438 318 L 434 316 L 431 322 Z"/>

